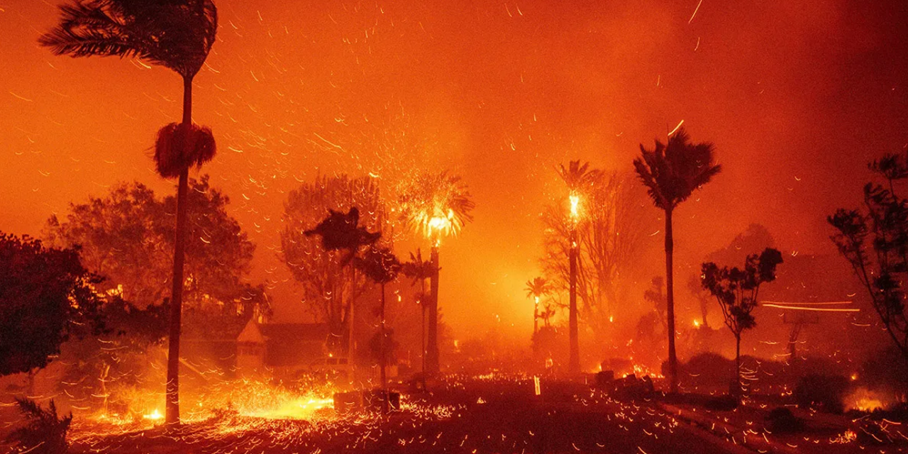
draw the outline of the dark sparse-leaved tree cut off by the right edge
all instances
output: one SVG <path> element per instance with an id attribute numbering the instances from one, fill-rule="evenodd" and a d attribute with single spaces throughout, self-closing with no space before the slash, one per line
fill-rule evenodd
<path id="1" fill-rule="evenodd" d="M 908 200 L 895 192 L 895 182 L 908 179 L 902 155 L 888 154 L 869 165 L 886 181 L 864 185 L 866 212 L 839 209 L 827 221 L 838 232 L 831 237 L 870 295 L 885 331 L 908 361 Z M 869 243 L 869 244 L 868 244 Z"/>

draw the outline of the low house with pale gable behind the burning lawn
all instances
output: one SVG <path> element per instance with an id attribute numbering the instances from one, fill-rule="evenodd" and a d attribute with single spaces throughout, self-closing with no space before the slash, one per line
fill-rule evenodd
<path id="1" fill-rule="evenodd" d="M 328 357 L 331 331 L 324 323 L 259 323 L 249 321 L 236 339 L 240 376 L 270 370 L 291 377 Z"/>

